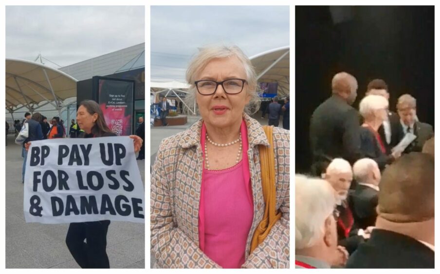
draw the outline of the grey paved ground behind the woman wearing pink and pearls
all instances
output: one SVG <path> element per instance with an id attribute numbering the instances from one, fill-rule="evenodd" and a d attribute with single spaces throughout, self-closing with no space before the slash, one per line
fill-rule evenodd
<path id="1" fill-rule="evenodd" d="M 258 122 L 260 122 L 260 124 L 262 124 L 262 125 L 267 125 L 267 123 L 268 123 L 267 115 L 266 115 L 266 119 L 262 119 L 261 112 L 258 112 L 256 115 L 254 115 L 253 118 L 258 120 Z M 150 140 L 151 165 L 153 165 L 154 161 L 156 160 L 157 150 L 159 149 L 159 145 L 164 138 L 170 137 L 174 134 L 177 134 L 177 133 L 187 129 L 195 121 L 197 121 L 199 119 L 200 119 L 200 117 L 198 117 L 198 116 L 188 116 L 188 122 L 184 125 L 152 127 L 151 128 L 151 140 Z M 282 127 L 282 119 L 280 119 L 280 126 Z M 150 268 L 153 268 L 154 263 L 155 263 L 155 258 L 153 255 L 150 255 Z"/>

